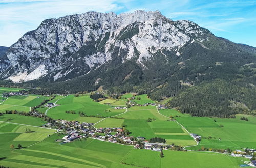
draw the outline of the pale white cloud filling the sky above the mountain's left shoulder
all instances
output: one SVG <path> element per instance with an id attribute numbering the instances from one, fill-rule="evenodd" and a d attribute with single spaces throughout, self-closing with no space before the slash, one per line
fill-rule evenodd
<path id="1" fill-rule="evenodd" d="M 122 8 L 114 0 L 0 0 L 0 46 L 12 45 L 48 18 L 87 11 L 118 11 Z"/>

